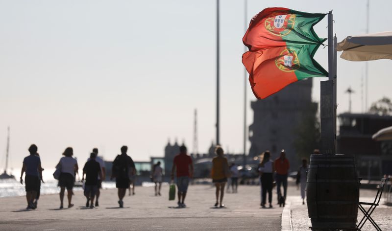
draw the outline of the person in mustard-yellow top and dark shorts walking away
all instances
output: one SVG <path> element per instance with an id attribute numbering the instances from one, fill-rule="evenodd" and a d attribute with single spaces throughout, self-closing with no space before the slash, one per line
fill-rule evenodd
<path id="1" fill-rule="evenodd" d="M 223 155 L 223 148 L 221 146 L 217 146 L 215 148 L 215 153 L 217 154 L 214 159 L 212 159 L 212 169 L 211 169 L 211 177 L 212 183 L 215 184 L 216 191 L 216 203 L 215 207 L 223 208 L 223 195 L 224 195 L 224 186 L 226 185 L 227 178 L 229 175 L 229 164 L 227 163 L 227 158 Z M 221 194 L 221 195 L 220 195 Z M 219 200 L 219 203 L 218 203 Z"/>

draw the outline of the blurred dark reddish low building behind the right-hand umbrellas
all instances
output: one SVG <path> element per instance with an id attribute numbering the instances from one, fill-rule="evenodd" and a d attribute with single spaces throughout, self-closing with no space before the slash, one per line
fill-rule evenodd
<path id="1" fill-rule="evenodd" d="M 388 142 L 377 142 L 371 137 L 380 129 L 392 126 L 392 116 L 373 114 L 338 115 L 338 153 L 355 155 L 359 176 L 379 180 L 392 174 L 392 153 Z"/>

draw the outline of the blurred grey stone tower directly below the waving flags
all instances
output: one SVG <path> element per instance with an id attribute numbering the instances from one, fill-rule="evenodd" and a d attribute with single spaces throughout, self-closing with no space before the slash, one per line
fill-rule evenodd
<path id="1" fill-rule="evenodd" d="M 295 82 L 266 99 L 251 102 L 253 124 L 249 126 L 249 155 L 258 156 L 270 150 L 275 159 L 281 149 L 285 149 L 291 169 L 296 169 L 300 159 L 293 144 L 295 129 L 312 107 L 317 107 L 317 103 L 312 102 L 312 79 Z"/>

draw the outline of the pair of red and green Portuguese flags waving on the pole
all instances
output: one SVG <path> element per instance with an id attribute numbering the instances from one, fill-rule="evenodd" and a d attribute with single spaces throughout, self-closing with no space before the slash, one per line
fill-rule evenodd
<path id="1" fill-rule="evenodd" d="M 324 16 L 274 7 L 252 18 L 243 38 L 249 51 L 242 62 L 257 98 L 264 99 L 304 78 L 328 76 L 313 59 L 326 40 L 317 36 L 313 25 Z"/>

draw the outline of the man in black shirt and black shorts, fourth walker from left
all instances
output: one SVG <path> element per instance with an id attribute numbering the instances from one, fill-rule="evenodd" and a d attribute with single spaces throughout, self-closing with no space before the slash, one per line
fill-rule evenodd
<path id="1" fill-rule="evenodd" d="M 110 178 L 111 180 L 114 177 L 116 178 L 120 208 L 124 207 L 123 198 L 126 189 L 129 188 L 129 169 L 135 168 L 135 163 L 132 158 L 126 154 L 127 151 L 127 146 L 124 145 L 121 147 L 121 155 L 117 155 L 116 159 L 113 161 L 112 176 Z"/>

